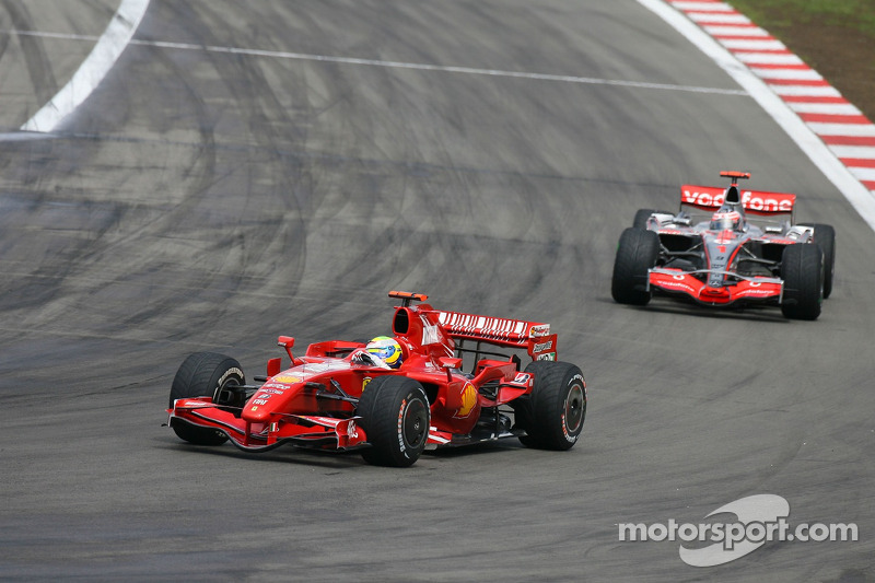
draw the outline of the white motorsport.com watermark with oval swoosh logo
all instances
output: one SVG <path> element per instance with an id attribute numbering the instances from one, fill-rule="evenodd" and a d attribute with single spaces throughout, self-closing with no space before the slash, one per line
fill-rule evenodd
<path id="1" fill-rule="evenodd" d="M 739 559 L 772 541 L 855 541 L 858 528 L 854 523 L 790 525 L 790 503 L 780 495 L 756 494 L 730 502 L 711 512 L 735 514 L 737 521 L 730 523 L 620 523 L 621 541 L 680 540 L 680 559 L 692 567 L 714 567 Z M 708 546 L 687 548 L 682 543 L 712 543 Z"/>

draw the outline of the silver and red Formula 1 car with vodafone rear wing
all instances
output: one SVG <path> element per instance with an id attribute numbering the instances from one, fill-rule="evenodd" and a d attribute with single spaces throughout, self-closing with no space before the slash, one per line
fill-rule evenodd
<path id="1" fill-rule="evenodd" d="M 832 291 L 835 230 L 795 224 L 795 195 L 739 190 L 749 173 L 721 176 L 728 188 L 681 186 L 677 214 L 638 211 L 617 247 L 614 299 L 645 305 L 663 293 L 709 306 L 780 305 L 789 318 L 816 319 Z"/>

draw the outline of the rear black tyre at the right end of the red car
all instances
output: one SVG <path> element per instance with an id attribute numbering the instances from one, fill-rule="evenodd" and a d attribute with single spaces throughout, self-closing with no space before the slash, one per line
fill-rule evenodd
<path id="1" fill-rule="evenodd" d="M 526 431 L 520 441 L 527 447 L 570 450 L 586 419 L 583 372 L 574 364 L 549 360 L 536 360 L 525 372 L 535 375 L 535 386 L 514 406 L 516 422 Z"/>

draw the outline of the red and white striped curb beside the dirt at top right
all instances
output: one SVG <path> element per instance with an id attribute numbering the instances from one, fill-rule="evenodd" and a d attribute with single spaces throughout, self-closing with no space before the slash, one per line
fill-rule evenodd
<path id="1" fill-rule="evenodd" d="M 667 0 L 760 78 L 875 194 L 875 125 L 750 19 L 720 0 Z"/>

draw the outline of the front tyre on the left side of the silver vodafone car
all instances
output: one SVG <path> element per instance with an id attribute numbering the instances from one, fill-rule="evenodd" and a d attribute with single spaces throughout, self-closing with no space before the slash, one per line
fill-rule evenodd
<path id="1" fill-rule="evenodd" d="M 620 235 L 610 294 L 620 304 L 646 305 L 653 295 L 648 288 L 648 270 L 660 257 L 660 235 L 630 226 Z"/>

